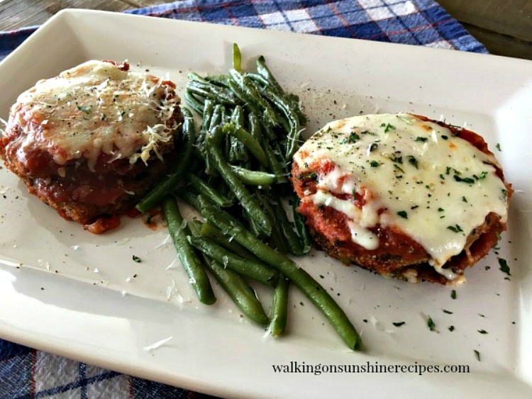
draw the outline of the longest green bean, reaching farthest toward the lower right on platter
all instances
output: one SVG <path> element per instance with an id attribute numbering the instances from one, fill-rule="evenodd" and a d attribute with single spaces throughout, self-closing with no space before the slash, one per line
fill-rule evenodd
<path id="1" fill-rule="evenodd" d="M 331 298 L 325 288 L 315 281 L 304 269 L 299 267 L 292 259 L 268 247 L 264 242 L 257 240 L 248 230 L 242 227 L 231 215 L 209 205 L 204 198 L 201 202 L 201 214 L 209 222 L 217 225 L 224 233 L 234 237 L 240 245 L 248 248 L 257 258 L 270 264 L 273 269 L 287 277 L 309 300 L 321 310 L 338 335 L 350 349 L 362 349 L 362 340 L 345 312 Z"/>

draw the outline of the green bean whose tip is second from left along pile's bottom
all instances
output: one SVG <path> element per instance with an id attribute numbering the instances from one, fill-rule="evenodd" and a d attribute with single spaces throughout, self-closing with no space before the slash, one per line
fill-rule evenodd
<path id="1" fill-rule="evenodd" d="M 242 313 L 259 325 L 268 324 L 270 320 L 268 320 L 260 300 L 242 277 L 230 269 L 224 269 L 218 262 L 207 260 L 206 264 Z"/>

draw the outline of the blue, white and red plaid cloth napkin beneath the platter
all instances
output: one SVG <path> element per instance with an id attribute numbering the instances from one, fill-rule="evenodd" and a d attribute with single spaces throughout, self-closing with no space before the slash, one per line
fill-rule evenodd
<path id="1" fill-rule="evenodd" d="M 187 0 L 140 15 L 487 52 L 432 0 Z M 0 32 L 0 59 L 38 27 Z M 0 339 L 1 398 L 204 398 Z"/>

